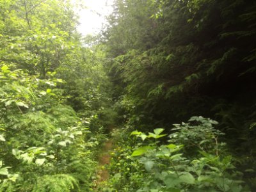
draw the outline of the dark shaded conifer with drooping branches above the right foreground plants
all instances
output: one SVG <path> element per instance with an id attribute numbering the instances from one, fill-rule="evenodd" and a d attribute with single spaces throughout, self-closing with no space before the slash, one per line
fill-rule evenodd
<path id="1" fill-rule="evenodd" d="M 120 122 L 211 116 L 239 170 L 255 170 L 255 19 L 252 1 L 115 1 L 103 41 Z"/>

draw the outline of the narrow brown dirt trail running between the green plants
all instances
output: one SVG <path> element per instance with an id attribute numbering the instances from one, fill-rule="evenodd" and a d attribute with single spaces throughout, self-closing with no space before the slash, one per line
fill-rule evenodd
<path id="1" fill-rule="evenodd" d="M 97 179 L 95 181 L 95 190 L 97 191 L 100 187 L 100 183 L 109 179 L 108 170 L 106 170 L 105 165 L 110 163 L 111 155 L 110 150 L 113 147 L 113 140 L 109 139 L 104 143 L 102 147 L 102 153 L 99 154 L 99 168 L 97 170 Z"/>

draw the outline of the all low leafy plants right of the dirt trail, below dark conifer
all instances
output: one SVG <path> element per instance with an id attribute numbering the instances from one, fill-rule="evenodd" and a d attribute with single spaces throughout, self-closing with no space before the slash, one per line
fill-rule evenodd
<path id="1" fill-rule="evenodd" d="M 114 174 L 106 191 L 250 191 L 219 141 L 223 133 L 214 129 L 216 124 L 193 116 L 189 123 L 175 124 L 170 135 L 161 128 L 131 132 L 136 139 L 123 140 L 113 152 Z"/>

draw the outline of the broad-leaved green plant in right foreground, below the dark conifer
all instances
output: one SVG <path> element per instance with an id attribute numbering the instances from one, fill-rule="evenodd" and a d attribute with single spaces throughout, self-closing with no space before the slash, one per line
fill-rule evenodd
<path id="1" fill-rule="evenodd" d="M 216 124 L 209 118 L 193 116 L 188 124 L 175 124 L 167 145 L 159 141 L 167 136 L 164 129 L 148 134 L 132 132 L 144 141 L 131 155 L 147 171 L 138 191 L 248 191 L 232 157 L 225 154 L 225 143 L 218 141 L 223 133 L 214 129 Z M 196 155 L 189 156 L 195 150 Z"/>

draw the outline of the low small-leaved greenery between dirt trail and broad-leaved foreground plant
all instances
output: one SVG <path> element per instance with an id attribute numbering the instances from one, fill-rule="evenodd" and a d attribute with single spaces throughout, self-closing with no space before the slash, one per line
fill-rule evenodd
<path id="1" fill-rule="evenodd" d="M 129 137 L 129 129 L 114 131 L 113 140 L 116 145 L 107 166 L 111 177 L 102 191 L 136 191 L 145 179 L 143 166 L 131 157 L 132 145 L 136 141 Z"/>

